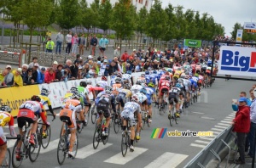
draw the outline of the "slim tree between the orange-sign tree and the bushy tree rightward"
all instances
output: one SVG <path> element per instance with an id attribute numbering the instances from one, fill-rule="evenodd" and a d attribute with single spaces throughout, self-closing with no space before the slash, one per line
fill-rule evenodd
<path id="1" fill-rule="evenodd" d="M 146 7 L 143 7 L 140 9 L 140 11 L 137 14 L 137 19 L 136 19 L 136 31 L 139 33 L 140 35 L 140 42 L 142 42 L 142 38 L 143 38 L 143 33 L 146 30 L 146 21 L 145 18 L 148 17 L 148 10 Z M 137 38 L 137 42 L 138 42 Z"/>

